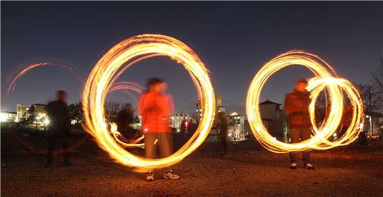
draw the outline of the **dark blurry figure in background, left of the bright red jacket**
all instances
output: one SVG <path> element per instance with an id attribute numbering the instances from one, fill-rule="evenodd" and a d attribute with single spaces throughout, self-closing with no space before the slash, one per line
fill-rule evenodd
<path id="1" fill-rule="evenodd" d="M 125 139 L 134 139 L 136 135 L 136 129 L 130 127 L 134 123 L 134 111 L 132 104 L 125 104 L 125 108 L 117 114 L 117 130 Z"/>

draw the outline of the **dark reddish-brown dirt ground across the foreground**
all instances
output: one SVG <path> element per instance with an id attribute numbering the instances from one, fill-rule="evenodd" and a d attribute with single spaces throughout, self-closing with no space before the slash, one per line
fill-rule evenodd
<path id="1" fill-rule="evenodd" d="M 314 151 L 314 171 L 291 170 L 288 155 L 266 150 L 196 152 L 173 167 L 180 180 L 159 170 L 155 182 L 100 151 L 71 159 L 44 168 L 44 155 L 2 155 L 1 196 L 383 196 L 383 151 L 369 148 Z"/>

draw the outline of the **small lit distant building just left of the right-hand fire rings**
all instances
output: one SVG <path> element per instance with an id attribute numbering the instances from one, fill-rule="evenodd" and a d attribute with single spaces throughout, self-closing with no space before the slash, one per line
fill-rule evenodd
<path id="1" fill-rule="evenodd" d="M 237 112 L 230 113 L 228 118 L 228 139 L 232 141 L 243 141 L 248 135 L 244 129 L 244 116 Z"/>

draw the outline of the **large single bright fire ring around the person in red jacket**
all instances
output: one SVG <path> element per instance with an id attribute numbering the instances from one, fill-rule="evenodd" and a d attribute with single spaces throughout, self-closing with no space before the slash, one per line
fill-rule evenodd
<path id="1" fill-rule="evenodd" d="M 129 61 L 153 56 L 169 56 L 185 66 L 198 90 L 204 109 L 203 119 L 192 138 L 173 155 L 162 159 L 145 159 L 123 149 L 109 134 L 104 118 L 104 102 L 118 69 Z M 169 36 L 143 34 L 127 38 L 109 49 L 89 74 L 83 92 L 83 110 L 86 130 L 98 145 L 120 164 L 132 166 L 134 171 L 146 172 L 178 163 L 192 153 L 208 136 L 214 117 L 214 90 L 208 70 L 187 45 Z"/>

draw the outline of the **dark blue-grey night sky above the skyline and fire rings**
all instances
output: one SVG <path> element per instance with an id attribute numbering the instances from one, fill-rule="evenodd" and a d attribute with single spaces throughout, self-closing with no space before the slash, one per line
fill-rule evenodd
<path id="1" fill-rule="evenodd" d="M 68 91 L 68 103 L 80 100 L 81 84 L 69 72 L 41 67 L 19 79 L 4 103 L 6 79 L 22 63 L 60 58 L 86 78 L 111 46 L 141 33 L 173 36 L 192 47 L 210 70 L 227 111 L 244 114 L 258 69 L 291 49 L 314 52 L 341 77 L 369 84 L 383 56 L 383 2 L 1 1 L 1 110 L 46 103 L 58 89 Z M 286 68 L 269 79 L 262 100 L 282 103 L 297 78 L 312 76 L 303 67 Z M 119 81 L 145 84 L 148 77 L 169 82 L 176 111 L 195 111 L 192 79 L 167 57 L 137 63 Z M 118 92 L 107 100 L 133 102 Z"/>

